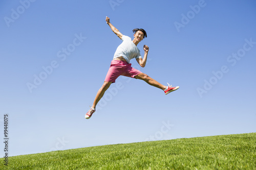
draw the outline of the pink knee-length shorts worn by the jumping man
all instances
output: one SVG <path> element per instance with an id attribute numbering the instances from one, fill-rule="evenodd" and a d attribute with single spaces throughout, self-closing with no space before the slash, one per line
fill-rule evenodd
<path id="1" fill-rule="evenodd" d="M 115 83 L 119 76 L 134 78 L 141 73 L 141 71 L 133 68 L 131 65 L 126 61 L 112 60 L 108 74 L 106 74 L 105 82 Z"/>

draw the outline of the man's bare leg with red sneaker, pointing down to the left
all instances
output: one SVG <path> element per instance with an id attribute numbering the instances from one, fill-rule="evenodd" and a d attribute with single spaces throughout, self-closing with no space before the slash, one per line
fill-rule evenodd
<path id="1" fill-rule="evenodd" d="M 86 113 L 86 118 L 89 119 L 91 118 L 92 114 L 96 111 L 96 105 L 97 103 L 100 101 L 100 99 L 102 98 L 102 96 L 104 95 L 105 91 L 108 90 L 108 88 L 110 87 L 112 82 L 104 82 L 103 85 L 101 86 L 101 88 L 98 90 L 96 97 L 94 99 L 93 102 L 93 106 L 91 107 L 91 109 Z"/>

